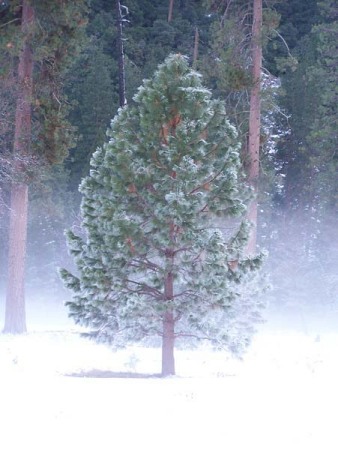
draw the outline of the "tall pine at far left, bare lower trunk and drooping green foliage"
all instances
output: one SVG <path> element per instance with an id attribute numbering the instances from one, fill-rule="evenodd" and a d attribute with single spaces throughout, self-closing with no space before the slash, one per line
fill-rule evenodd
<path id="1" fill-rule="evenodd" d="M 13 151 L 7 165 L 11 206 L 6 332 L 26 330 L 24 273 L 29 185 L 44 167 L 62 160 L 72 146 L 62 75 L 78 52 L 86 23 L 85 10 L 85 0 L 62 4 L 15 0 L 6 5 L 0 16 L 0 89 L 8 80 L 16 86 L 14 135 L 9 137 Z"/>

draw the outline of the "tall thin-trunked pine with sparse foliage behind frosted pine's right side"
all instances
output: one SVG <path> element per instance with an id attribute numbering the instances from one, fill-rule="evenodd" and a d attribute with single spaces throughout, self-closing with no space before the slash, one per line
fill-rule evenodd
<path id="1" fill-rule="evenodd" d="M 202 71 L 217 95 L 225 99 L 229 117 L 240 134 L 247 180 L 256 194 L 247 213 L 254 224 L 248 252 L 254 253 L 261 216 L 258 202 L 265 200 L 261 186 L 267 181 L 260 167 L 270 165 L 267 161 L 273 145 L 270 136 L 273 132 L 277 134 L 273 130 L 273 110 L 278 84 L 263 67 L 263 54 L 267 52 L 267 43 L 276 36 L 279 17 L 273 1 L 263 4 L 260 0 L 207 0 L 206 4 L 215 20 Z"/>

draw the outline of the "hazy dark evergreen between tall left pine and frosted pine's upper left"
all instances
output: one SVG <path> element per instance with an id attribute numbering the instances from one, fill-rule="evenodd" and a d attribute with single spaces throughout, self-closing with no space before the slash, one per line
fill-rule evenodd
<path id="1" fill-rule="evenodd" d="M 65 161 L 72 192 L 77 192 L 88 173 L 93 149 L 104 140 L 111 116 L 117 111 L 118 93 L 112 76 L 116 70 L 116 62 L 104 53 L 102 43 L 92 39 L 68 78 L 68 95 L 75 103 L 70 120 L 79 134 Z"/>

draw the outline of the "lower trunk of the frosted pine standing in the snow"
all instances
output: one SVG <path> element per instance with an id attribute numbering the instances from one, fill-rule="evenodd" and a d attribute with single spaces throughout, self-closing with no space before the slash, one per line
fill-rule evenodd
<path id="1" fill-rule="evenodd" d="M 166 302 L 171 302 L 174 297 L 174 277 L 170 272 L 167 274 L 164 286 Z M 175 375 L 175 320 L 174 313 L 166 311 L 163 317 L 162 336 L 162 376 Z"/>

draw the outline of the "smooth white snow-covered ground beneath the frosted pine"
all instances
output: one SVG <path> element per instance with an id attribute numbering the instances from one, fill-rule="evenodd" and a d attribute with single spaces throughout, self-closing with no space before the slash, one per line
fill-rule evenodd
<path id="1" fill-rule="evenodd" d="M 158 349 L 85 340 L 60 304 L 28 313 L 29 333 L 0 335 L 0 449 L 338 449 L 334 308 L 270 314 L 242 361 L 177 350 L 167 379 L 139 377 Z"/>

